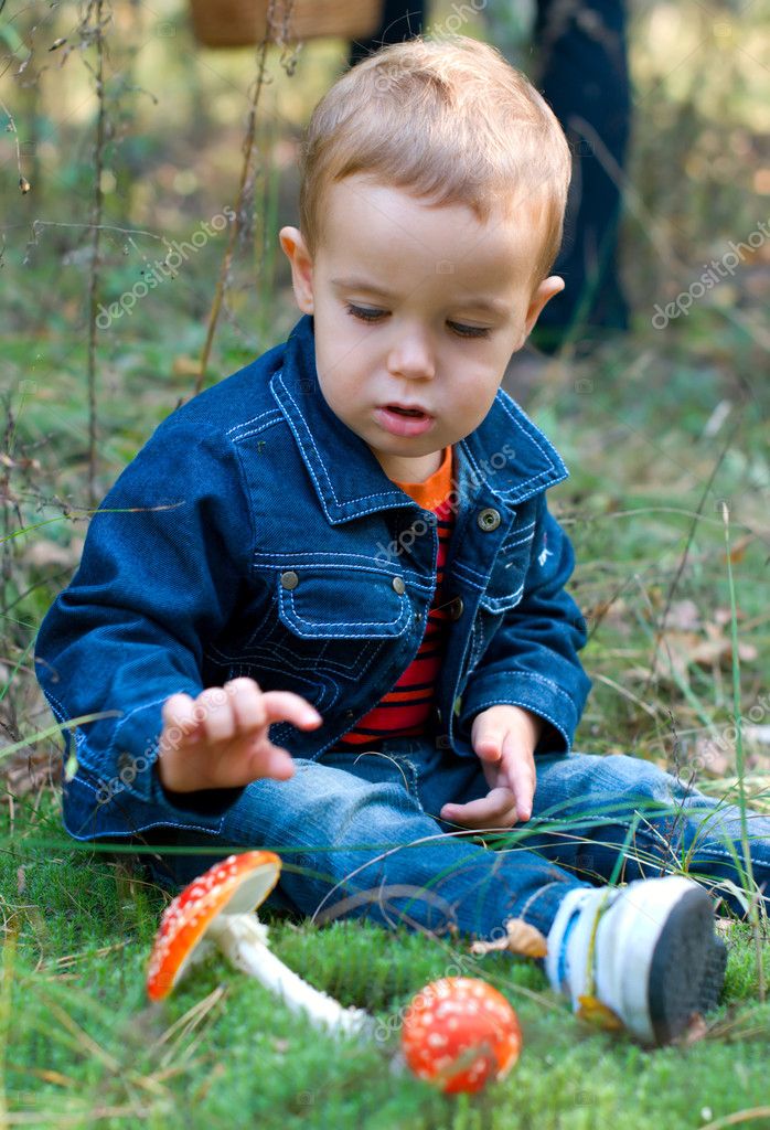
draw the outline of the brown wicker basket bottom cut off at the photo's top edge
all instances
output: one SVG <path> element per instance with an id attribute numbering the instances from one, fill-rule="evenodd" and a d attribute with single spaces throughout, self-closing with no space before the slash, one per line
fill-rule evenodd
<path id="1" fill-rule="evenodd" d="M 207 47 L 292 43 L 332 35 L 343 40 L 373 35 L 383 0 L 274 0 L 268 35 L 269 0 L 190 0 L 195 38 Z"/>

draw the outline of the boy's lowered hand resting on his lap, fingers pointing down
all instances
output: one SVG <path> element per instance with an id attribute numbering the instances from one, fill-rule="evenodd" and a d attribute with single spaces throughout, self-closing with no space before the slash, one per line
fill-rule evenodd
<path id="1" fill-rule="evenodd" d="M 490 791 L 467 805 L 445 805 L 443 820 L 466 828 L 509 828 L 532 816 L 534 749 L 543 720 L 520 706 L 490 706 L 473 719 L 471 744 Z"/>

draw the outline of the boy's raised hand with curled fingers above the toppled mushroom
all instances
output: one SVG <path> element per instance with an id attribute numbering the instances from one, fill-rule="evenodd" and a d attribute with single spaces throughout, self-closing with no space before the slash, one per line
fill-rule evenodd
<path id="1" fill-rule="evenodd" d="M 300 730 L 322 718 L 291 690 L 260 690 L 254 679 L 239 678 L 209 687 L 198 698 L 172 695 L 163 705 L 164 727 L 157 772 L 172 792 L 230 789 L 260 777 L 286 781 L 294 774 L 287 749 L 273 746 L 268 728 L 291 722 Z"/>

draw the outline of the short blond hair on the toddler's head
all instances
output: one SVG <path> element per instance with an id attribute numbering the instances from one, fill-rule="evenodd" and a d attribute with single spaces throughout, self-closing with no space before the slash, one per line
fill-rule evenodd
<path id="1" fill-rule="evenodd" d="M 300 228 L 321 241 L 329 186 L 356 173 L 435 205 L 469 206 L 481 223 L 530 209 L 543 241 L 534 285 L 561 244 L 571 160 L 552 110 L 489 44 L 422 36 L 383 47 L 321 99 L 301 158 Z"/>

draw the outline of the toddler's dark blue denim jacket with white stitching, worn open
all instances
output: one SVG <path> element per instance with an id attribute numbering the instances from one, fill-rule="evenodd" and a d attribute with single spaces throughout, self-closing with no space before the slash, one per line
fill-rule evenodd
<path id="1" fill-rule="evenodd" d="M 323 716 L 274 723 L 296 757 L 334 746 L 417 654 L 436 583 L 435 516 L 334 416 L 313 319 L 155 432 L 95 513 L 80 566 L 47 612 L 36 671 L 75 734 L 64 823 L 89 840 L 177 825 L 216 833 L 240 790 L 167 794 L 154 767 L 172 694 L 251 676 Z M 475 714 L 499 703 L 546 720 L 537 753 L 567 750 L 590 686 L 577 659 L 574 567 L 545 490 L 567 477 L 502 391 L 455 447 L 446 563 L 449 632 L 435 740 L 474 756 Z"/>

